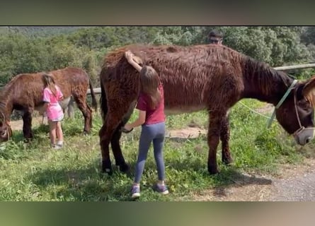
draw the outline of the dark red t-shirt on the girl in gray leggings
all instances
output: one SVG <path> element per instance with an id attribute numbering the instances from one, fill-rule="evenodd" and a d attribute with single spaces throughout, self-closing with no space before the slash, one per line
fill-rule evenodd
<path id="1" fill-rule="evenodd" d="M 157 104 L 155 109 L 151 109 L 150 97 L 147 94 L 140 93 L 137 102 L 137 109 L 146 112 L 146 120 L 144 121 L 145 125 L 157 124 L 159 122 L 165 121 L 164 114 L 164 90 L 163 86 L 159 85 L 159 91 L 161 94 L 161 101 Z"/>

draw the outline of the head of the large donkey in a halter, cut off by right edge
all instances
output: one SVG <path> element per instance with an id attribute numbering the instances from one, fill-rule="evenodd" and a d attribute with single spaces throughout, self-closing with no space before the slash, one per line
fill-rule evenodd
<path id="1" fill-rule="evenodd" d="M 315 76 L 297 83 L 278 109 L 277 120 L 299 145 L 314 138 Z"/>

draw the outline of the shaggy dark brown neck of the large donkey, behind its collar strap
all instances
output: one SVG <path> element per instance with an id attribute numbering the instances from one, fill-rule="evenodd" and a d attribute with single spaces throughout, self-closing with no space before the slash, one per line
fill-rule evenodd
<path id="1" fill-rule="evenodd" d="M 285 73 L 248 59 L 244 71 L 244 97 L 277 105 L 292 82 Z"/>

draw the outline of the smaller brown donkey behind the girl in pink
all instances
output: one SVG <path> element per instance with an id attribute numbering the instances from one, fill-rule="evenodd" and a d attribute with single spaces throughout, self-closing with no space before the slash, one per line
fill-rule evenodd
<path id="1" fill-rule="evenodd" d="M 15 76 L 1 90 L 0 95 L 0 141 L 7 141 L 12 135 L 10 128 L 10 116 L 13 109 L 22 112 L 23 117 L 23 135 L 25 138 L 33 138 L 31 131 L 32 113 L 34 110 L 42 110 L 42 82 L 41 73 L 23 73 Z M 92 111 L 86 102 L 86 92 L 88 87 L 91 89 L 92 105 L 97 109 L 97 101 L 93 92 L 91 80 L 83 69 L 66 68 L 57 71 L 47 72 L 55 78 L 55 83 L 59 85 L 64 95 L 61 102 L 65 108 L 74 97 L 76 105 L 84 116 L 84 133 L 89 133 L 92 126 Z"/>

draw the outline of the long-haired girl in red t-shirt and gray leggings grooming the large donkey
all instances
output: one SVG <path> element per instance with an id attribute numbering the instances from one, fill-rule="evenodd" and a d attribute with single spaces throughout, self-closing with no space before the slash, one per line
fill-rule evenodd
<path id="1" fill-rule="evenodd" d="M 136 121 L 125 124 L 125 131 L 131 131 L 134 127 L 142 125 L 139 141 L 139 154 L 136 165 L 134 184 L 132 185 L 132 198 L 140 196 L 140 179 L 144 171 L 144 163 L 151 143 L 154 148 L 154 158 L 159 176 L 155 189 L 161 194 L 168 194 L 164 183 L 165 166 L 163 157 L 163 145 L 165 136 L 164 114 L 164 90 L 159 76 L 151 66 L 139 66 L 134 61 L 132 52 L 125 52 L 127 61 L 140 72 L 141 92 L 138 97 L 137 109 L 139 117 Z M 124 131 L 123 130 L 123 131 Z"/>

